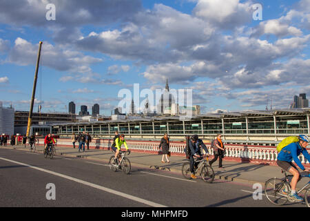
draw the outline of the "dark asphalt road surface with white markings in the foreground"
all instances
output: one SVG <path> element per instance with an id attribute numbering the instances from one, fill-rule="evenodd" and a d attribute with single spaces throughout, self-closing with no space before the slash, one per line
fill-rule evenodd
<path id="1" fill-rule="evenodd" d="M 50 183 L 55 185 L 55 200 L 46 198 Z M 262 200 L 254 200 L 253 192 L 245 183 L 215 180 L 206 184 L 146 167 L 133 167 L 125 175 L 111 171 L 104 162 L 59 156 L 50 160 L 42 153 L 0 148 L 1 207 L 275 206 L 264 195 Z"/>

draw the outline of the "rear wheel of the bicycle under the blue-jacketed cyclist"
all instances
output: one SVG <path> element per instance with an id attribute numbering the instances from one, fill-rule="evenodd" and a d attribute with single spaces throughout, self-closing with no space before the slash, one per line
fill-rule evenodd
<path id="1" fill-rule="evenodd" d="M 283 193 L 285 189 L 288 192 L 291 190 L 289 184 L 281 179 L 271 178 L 265 182 L 265 195 L 273 204 L 283 205 L 287 202 L 287 194 Z"/>

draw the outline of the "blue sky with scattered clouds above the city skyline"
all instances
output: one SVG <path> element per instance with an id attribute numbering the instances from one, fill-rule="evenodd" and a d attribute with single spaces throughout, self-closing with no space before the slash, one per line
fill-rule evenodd
<path id="1" fill-rule="evenodd" d="M 41 102 L 68 112 L 74 101 L 76 112 L 98 103 L 110 115 L 121 89 L 155 91 L 166 79 L 192 89 L 203 113 L 265 110 L 271 99 L 288 108 L 310 95 L 309 29 L 310 0 L 1 1 L 0 100 L 29 110 L 43 41 L 35 111 Z"/>

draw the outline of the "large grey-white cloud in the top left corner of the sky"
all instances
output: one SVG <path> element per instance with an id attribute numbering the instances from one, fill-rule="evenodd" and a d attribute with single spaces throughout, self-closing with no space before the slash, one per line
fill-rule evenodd
<path id="1" fill-rule="evenodd" d="M 56 10 L 56 21 L 48 21 L 46 6 L 52 3 Z M 34 26 L 52 30 L 54 40 L 62 44 L 79 39 L 78 27 L 83 25 L 106 26 L 110 23 L 130 21 L 141 10 L 139 0 L 21 0 L 0 1 L 0 21 L 11 26 Z"/>

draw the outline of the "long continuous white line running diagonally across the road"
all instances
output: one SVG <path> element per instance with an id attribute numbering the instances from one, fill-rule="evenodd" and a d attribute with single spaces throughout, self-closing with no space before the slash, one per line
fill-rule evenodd
<path id="1" fill-rule="evenodd" d="M 63 178 L 65 178 L 65 179 L 72 180 L 72 181 L 74 181 L 74 182 L 78 182 L 78 183 L 84 184 L 84 185 L 86 185 L 86 186 L 91 186 L 91 187 L 93 187 L 93 188 L 95 188 L 95 189 L 100 189 L 101 191 L 105 191 L 105 192 L 107 192 L 107 193 L 112 193 L 112 194 L 121 196 L 121 197 L 123 197 L 123 198 L 127 198 L 127 199 L 130 199 L 130 200 L 134 200 L 134 201 L 136 201 L 136 202 L 141 202 L 141 203 L 147 204 L 147 205 L 149 205 L 149 206 L 154 206 L 154 207 L 167 207 L 167 206 L 164 206 L 164 205 L 162 205 L 162 204 L 157 204 L 156 202 L 151 202 L 151 201 L 149 201 L 149 200 L 144 200 L 144 199 L 142 199 L 142 198 L 137 198 L 137 197 L 135 197 L 134 195 L 129 195 L 129 194 L 126 194 L 126 193 L 121 193 L 120 191 L 115 191 L 115 190 L 113 190 L 113 189 L 109 189 L 109 188 L 104 187 L 104 186 L 99 186 L 99 185 L 97 185 L 97 184 L 92 184 L 91 182 L 86 182 L 86 181 L 84 181 L 84 180 L 79 180 L 79 179 L 77 179 L 77 178 L 70 177 L 70 176 L 68 176 L 68 175 L 63 175 L 63 174 L 61 174 L 61 173 L 56 173 L 56 172 L 54 172 L 54 171 L 48 171 L 48 170 L 45 170 L 45 169 L 41 169 L 41 168 L 39 168 L 39 167 L 37 167 L 37 166 L 32 166 L 32 165 L 24 164 L 24 163 L 21 163 L 21 162 L 16 162 L 16 161 L 14 161 L 14 160 L 8 160 L 8 159 L 2 158 L 2 157 L 0 157 L 0 160 L 5 160 L 5 161 L 12 162 L 12 163 L 14 163 L 14 164 L 19 164 L 19 165 L 22 165 L 22 166 L 28 166 L 29 168 L 36 169 L 36 170 L 42 171 L 42 172 L 44 172 L 44 173 L 50 173 L 50 174 L 52 174 L 52 175 L 56 175 L 56 176 L 59 176 L 59 177 L 63 177 Z"/>

